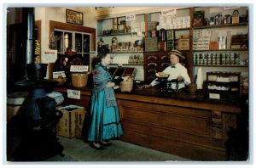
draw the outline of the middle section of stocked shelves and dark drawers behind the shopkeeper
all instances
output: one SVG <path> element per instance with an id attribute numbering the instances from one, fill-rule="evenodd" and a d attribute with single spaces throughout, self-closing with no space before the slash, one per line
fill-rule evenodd
<path id="1" fill-rule="evenodd" d="M 168 12 L 170 14 L 166 14 Z M 188 69 L 189 76 L 192 76 L 191 19 L 191 8 L 173 8 L 147 14 L 144 53 L 146 81 L 154 80 L 155 72 L 170 65 L 167 55 L 172 49 L 181 51 L 186 57 L 182 63 Z M 163 57 L 166 59 L 161 59 Z"/>

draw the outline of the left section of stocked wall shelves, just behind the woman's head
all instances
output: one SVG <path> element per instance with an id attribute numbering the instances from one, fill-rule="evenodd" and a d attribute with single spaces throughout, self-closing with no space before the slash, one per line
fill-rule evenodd
<path id="1" fill-rule="evenodd" d="M 98 41 L 110 50 L 113 58 L 109 67 L 134 67 L 136 79 L 143 81 L 143 38 L 145 36 L 145 14 L 131 14 L 97 21 Z M 99 45 L 98 45 L 99 46 Z"/>

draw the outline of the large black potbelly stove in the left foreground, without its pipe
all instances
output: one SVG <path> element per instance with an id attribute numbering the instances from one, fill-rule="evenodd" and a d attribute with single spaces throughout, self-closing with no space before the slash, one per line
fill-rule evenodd
<path id="1" fill-rule="evenodd" d="M 26 67 L 47 64 L 27 64 Z M 30 68 L 27 68 L 29 70 Z M 44 70 L 43 70 L 44 71 Z M 15 85 L 29 92 L 20 107 L 20 111 L 11 120 L 10 125 L 20 132 L 20 144 L 15 149 L 15 161 L 46 160 L 56 154 L 62 154 L 63 147 L 56 137 L 55 126 L 61 119 L 61 111 L 55 109 L 55 99 L 47 96 L 47 91 L 55 87 L 56 82 L 44 80 L 41 73 L 35 78 L 18 81 Z"/>

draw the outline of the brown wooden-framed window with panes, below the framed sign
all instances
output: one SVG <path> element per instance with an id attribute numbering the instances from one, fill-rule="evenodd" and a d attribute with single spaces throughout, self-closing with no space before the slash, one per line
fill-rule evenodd
<path id="1" fill-rule="evenodd" d="M 86 65 L 93 64 L 90 51 L 96 51 L 96 29 L 81 25 L 72 25 L 49 21 L 49 48 L 64 54 L 67 47 L 77 51 Z"/>

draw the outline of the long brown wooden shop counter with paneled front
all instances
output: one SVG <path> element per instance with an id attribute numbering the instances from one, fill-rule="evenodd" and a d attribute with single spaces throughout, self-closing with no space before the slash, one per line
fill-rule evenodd
<path id="1" fill-rule="evenodd" d="M 67 98 L 67 88 L 59 87 L 66 104 L 90 102 L 90 88 L 81 98 Z M 164 151 L 191 160 L 225 160 L 225 142 L 241 113 L 238 104 L 210 101 L 202 94 L 160 92 L 159 88 L 116 92 L 124 130 L 122 141 Z"/>

